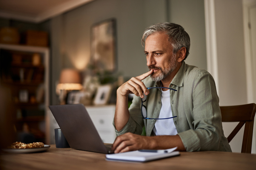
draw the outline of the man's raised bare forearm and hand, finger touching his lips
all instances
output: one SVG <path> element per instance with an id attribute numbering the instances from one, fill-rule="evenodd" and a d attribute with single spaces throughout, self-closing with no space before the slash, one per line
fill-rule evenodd
<path id="1" fill-rule="evenodd" d="M 140 96 L 141 98 L 144 97 L 143 92 L 148 95 L 149 90 L 147 90 L 145 84 L 141 80 L 151 75 L 152 72 L 153 70 L 150 70 L 145 74 L 133 77 L 117 89 L 116 112 L 114 117 L 117 131 L 121 131 L 129 120 L 128 95 L 131 93 Z"/>

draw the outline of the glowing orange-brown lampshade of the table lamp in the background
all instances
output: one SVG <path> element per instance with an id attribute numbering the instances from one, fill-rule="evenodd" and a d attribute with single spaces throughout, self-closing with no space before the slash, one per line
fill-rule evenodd
<path id="1" fill-rule="evenodd" d="M 81 76 L 75 69 L 63 69 L 60 73 L 59 84 L 57 89 L 59 90 L 81 90 Z"/>

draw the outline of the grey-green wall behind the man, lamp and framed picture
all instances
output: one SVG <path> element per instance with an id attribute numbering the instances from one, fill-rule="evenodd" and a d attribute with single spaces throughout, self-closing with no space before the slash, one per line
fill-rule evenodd
<path id="1" fill-rule="evenodd" d="M 142 32 L 146 27 L 168 19 L 184 26 L 190 34 L 191 54 L 186 62 L 206 69 L 203 0 L 193 3 L 183 0 L 180 3 L 185 10 L 177 15 L 180 4 L 174 0 L 95 0 L 53 18 L 52 92 L 62 68 L 76 67 L 85 72 L 90 57 L 90 28 L 109 18 L 117 20 L 117 71 L 124 77 L 148 71 L 141 46 Z M 57 101 L 57 96 L 52 94 L 52 104 Z"/>

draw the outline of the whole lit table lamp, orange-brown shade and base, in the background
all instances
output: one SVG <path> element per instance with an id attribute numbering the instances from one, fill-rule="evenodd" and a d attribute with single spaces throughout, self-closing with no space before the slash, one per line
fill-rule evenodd
<path id="1" fill-rule="evenodd" d="M 81 90 L 81 76 L 75 69 L 63 69 L 60 73 L 56 92 L 59 94 L 60 104 L 65 104 L 66 94 L 70 90 Z"/>

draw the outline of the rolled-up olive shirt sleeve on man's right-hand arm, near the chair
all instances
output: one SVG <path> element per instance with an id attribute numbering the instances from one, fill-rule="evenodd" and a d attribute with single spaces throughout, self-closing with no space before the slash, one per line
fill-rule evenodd
<path id="1" fill-rule="evenodd" d="M 186 151 L 217 151 L 221 140 L 221 112 L 214 79 L 206 71 L 198 74 L 194 81 L 189 78 L 188 84 L 184 83 L 190 86 L 190 90 L 184 90 L 184 108 L 191 130 L 178 135 Z"/>

